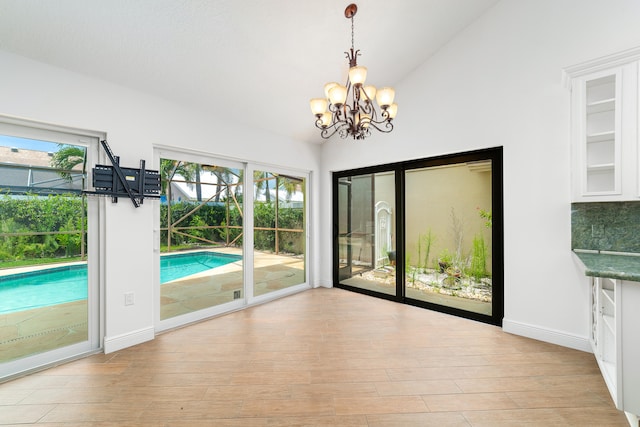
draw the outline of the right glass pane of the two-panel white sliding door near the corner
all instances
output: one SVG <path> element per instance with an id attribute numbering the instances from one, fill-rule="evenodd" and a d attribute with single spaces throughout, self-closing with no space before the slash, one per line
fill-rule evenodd
<path id="1" fill-rule="evenodd" d="M 255 171 L 253 294 L 306 281 L 305 179 Z"/>

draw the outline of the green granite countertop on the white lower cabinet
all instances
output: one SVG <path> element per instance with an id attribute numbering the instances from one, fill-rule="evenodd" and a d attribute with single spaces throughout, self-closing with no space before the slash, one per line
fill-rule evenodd
<path id="1" fill-rule="evenodd" d="M 573 253 L 584 264 L 587 276 L 640 282 L 640 256 L 580 250 Z"/>

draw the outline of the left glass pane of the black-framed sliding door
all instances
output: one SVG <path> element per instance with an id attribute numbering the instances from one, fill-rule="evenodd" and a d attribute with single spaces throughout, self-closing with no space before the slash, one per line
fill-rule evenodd
<path id="1" fill-rule="evenodd" d="M 396 294 L 395 174 L 338 180 L 339 283 Z"/>

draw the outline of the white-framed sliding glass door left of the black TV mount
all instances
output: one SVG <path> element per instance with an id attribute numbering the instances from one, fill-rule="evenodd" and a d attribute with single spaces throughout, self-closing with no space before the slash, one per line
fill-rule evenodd
<path id="1" fill-rule="evenodd" d="M 97 147 L 0 117 L 0 380 L 100 346 Z"/>

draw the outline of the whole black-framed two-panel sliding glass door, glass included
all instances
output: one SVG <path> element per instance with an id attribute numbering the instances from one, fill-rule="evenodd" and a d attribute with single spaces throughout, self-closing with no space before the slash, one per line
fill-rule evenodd
<path id="1" fill-rule="evenodd" d="M 501 324 L 501 148 L 337 172 L 334 222 L 337 287 Z"/>

